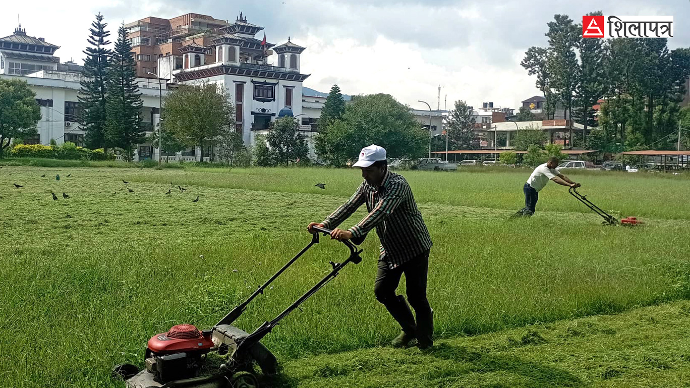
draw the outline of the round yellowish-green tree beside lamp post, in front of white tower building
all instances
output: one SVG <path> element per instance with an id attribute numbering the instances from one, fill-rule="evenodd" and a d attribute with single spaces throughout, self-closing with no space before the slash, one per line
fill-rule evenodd
<path id="1" fill-rule="evenodd" d="M 201 148 L 224 130 L 234 128 L 233 104 L 216 84 L 181 85 L 163 101 L 166 111 L 164 128 L 186 146 Z"/>

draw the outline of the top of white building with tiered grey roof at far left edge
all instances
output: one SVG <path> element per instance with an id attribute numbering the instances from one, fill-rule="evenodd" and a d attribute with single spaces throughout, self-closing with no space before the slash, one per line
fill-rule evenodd
<path id="1" fill-rule="evenodd" d="M 14 34 L 0 38 L 0 74 L 27 75 L 40 70 L 56 70 L 60 59 L 53 54 L 58 48 L 43 38 L 26 35 L 20 24 Z"/>

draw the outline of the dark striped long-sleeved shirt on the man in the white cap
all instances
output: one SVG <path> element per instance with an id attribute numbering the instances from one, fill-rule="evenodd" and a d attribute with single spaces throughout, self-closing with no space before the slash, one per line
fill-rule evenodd
<path id="1" fill-rule="evenodd" d="M 386 172 L 378 190 L 366 180 L 362 182 L 345 204 L 326 217 L 324 226 L 335 229 L 365 203 L 369 213 L 348 231 L 354 237 L 361 237 L 376 228 L 381 240 L 381 260 L 388 263 L 389 268 L 431 249 L 431 237 L 410 185 L 402 175 L 391 171 Z"/>

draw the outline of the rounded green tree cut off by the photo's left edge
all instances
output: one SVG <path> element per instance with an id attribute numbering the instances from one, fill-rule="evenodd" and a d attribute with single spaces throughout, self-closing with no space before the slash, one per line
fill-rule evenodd
<path id="1" fill-rule="evenodd" d="M 36 135 L 41 108 L 26 81 L 0 79 L 0 158 L 13 138 Z"/>

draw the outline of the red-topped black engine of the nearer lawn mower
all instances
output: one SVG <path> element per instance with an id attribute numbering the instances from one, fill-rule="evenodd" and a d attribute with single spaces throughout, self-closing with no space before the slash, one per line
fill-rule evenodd
<path id="1" fill-rule="evenodd" d="M 211 333 L 192 324 L 178 324 L 153 336 L 146 348 L 146 369 L 161 383 L 197 376 L 213 347 Z"/>

